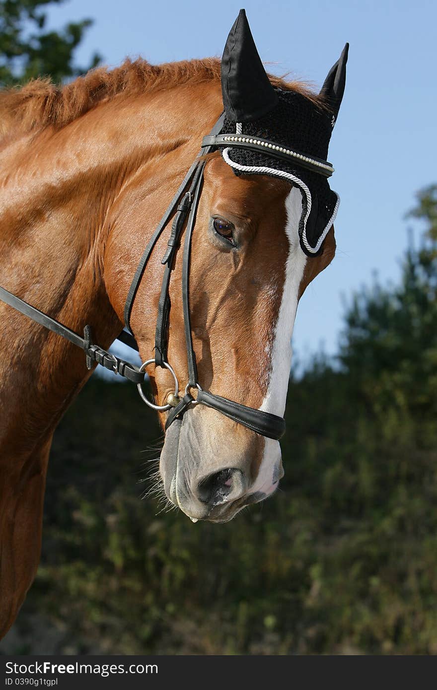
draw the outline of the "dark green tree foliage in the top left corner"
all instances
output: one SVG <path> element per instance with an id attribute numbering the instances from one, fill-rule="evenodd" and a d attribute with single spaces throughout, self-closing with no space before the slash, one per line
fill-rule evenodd
<path id="1" fill-rule="evenodd" d="M 52 3 L 64 0 L 0 0 L 0 87 L 50 76 L 60 82 L 87 72 L 101 57 L 95 53 L 88 66 L 73 61 L 75 48 L 91 26 L 91 19 L 70 22 L 62 30 L 47 31 Z"/>

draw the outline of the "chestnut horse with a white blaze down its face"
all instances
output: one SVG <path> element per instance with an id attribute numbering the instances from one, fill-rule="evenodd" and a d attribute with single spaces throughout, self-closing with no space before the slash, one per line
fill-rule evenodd
<path id="1" fill-rule="evenodd" d="M 241 12 L 237 21 L 222 63 L 211 58 L 153 66 L 137 59 L 113 70 L 97 68 L 66 86 L 37 79 L 0 94 L 1 286 L 75 333 L 92 324 L 96 342 L 110 346 L 124 325 L 124 303 L 139 257 L 195 159 L 200 137 L 208 135 L 223 110 L 228 119 L 230 114 L 238 118 L 230 117 L 233 127 L 237 122 L 237 136 L 270 112 L 253 104 L 247 106 L 255 108 L 250 117 L 239 111 L 238 99 L 251 77 L 244 73 L 246 63 L 258 69 L 260 62 L 254 45 L 242 41 L 242 32 L 245 39 L 249 34 Z M 236 77 L 231 41 L 245 46 L 237 55 L 241 70 Z M 247 46 L 251 55 L 244 52 Z M 298 99 L 331 126 L 342 97 L 339 64 L 344 72 L 336 63 L 320 94 L 304 83 L 267 76 L 264 68 L 260 90 L 272 108 L 279 107 L 273 97 Z M 246 105 L 251 97 L 253 91 Z M 247 143 L 251 146 L 249 138 Z M 226 148 L 228 160 L 233 150 Z M 309 154 L 315 160 L 317 152 Z M 291 173 L 262 169 L 253 174 L 244 170 L 250 166 L 235 161 L 234 166 L 226 161 L 223 148 L 202 155 L 203 186 L 189 264 L 193 351 L 202 388 L 255 411 L 283 415 L 296 309 L 309 283 L 333 259 L 334 230 L 332 221 L 323 223 L 322 242 L 313 242 L 307 251 L 302 208 L 307 218 L 311 213 L 304 205 L 303 182 L 295 184 Z M 315 194 L 313 209 L 314 199 Z M 317 229 L 317 222 L 312 227 Z M 163 232 L 130 313 L 143 361 L 153 353 L 167 241 Z M 182 264 L 176 253 L 168 287 L 167 357 L 177 379 L 185 382 Z M 75 344 L 3 302 L 0 319 L 4 635 L 39 563 L 53 433 L 93 367 L 86 366 Z M 149 366 L 148 373 L 155 399 L 165 406 L 175 393 L 171 372 Z M 283 475 L 280 444 L 211 406 L 195 404 L 194 397 L 191 402 L 166 433 L 162 482 L 168 499 L 193 521 L 224 522 L 277 489 Z M 104 401 L 95 413 L 104 414 Z M 159 411 L 159 418 L 165 426 L 168 412 Z M 175 491 L 176 474 L 184 491 Z"/>

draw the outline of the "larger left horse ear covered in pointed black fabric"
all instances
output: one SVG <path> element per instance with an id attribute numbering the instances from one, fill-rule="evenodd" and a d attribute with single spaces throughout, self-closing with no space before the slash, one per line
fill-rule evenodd
<path id="1" fill-rule="evenodd" d="M 258 119 L 278 103 L 244 10 L 240 10 L 224 46 L 222 94 L 226 116 L 234 122 Z"/>

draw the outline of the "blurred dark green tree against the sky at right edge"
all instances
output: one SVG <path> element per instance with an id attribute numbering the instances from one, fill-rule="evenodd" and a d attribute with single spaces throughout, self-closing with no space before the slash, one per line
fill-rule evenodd
<path id="1" fill-rule="evenodd" d="M 417 199 L 408 216 L 425 224 L 420 246 L 410 242 L 399 286 L 376 282 L 353 298 L 340 361 L 376 413 L 396 407 L 430 431 L 437 415 L 437 185 Z"/>

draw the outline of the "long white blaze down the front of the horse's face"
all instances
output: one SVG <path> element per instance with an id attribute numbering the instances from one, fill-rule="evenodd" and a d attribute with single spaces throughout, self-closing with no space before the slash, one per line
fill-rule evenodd
<path id="1" fill-rule="evenodd" d="M 270 348 L 271 375 L 266 396 L 260 410 L 282 417 L 287 400 L 287 388 L 291 367 L 291 335 L 298 308 L 298 291 L 304 275 L 307 256 L 302 251 L 299 242 L 299 222 L 302 216 L 302 194 L 297 187 L 291 188 L 285 200 L 287 210 L 287 225 L 285 233 L 289 239 L 289 255 L 285 266 L 284 289 L 282 290 L 281 306 L 275 333 Z M 280 462 L 280 445 L 278 441 L 265 438 L 264 455 L 258 472 L 257 480 L 252 491 L 271 493 L 276 487 L 273 484 L 273 474 L 278 472 Z"/>

